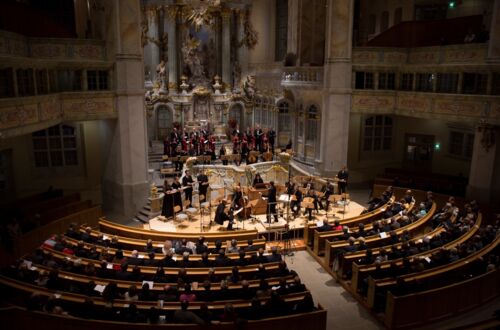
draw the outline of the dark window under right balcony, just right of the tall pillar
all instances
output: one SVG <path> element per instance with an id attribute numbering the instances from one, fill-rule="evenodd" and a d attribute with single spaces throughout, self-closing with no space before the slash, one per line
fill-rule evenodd
<path id="1" fill-rule="evenodd" d="M 392 118 L 373 116 L 365 119 L 363 151 L 391 150 Z"/>

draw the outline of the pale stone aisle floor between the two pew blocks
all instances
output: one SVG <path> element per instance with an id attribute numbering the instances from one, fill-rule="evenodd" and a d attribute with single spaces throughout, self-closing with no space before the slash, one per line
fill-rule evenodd
<path id="1" fill-rule="evenodd" d="M 287 257 L 286 262 L 312 292 L 315 303 L 328 310 L 327 329 L 383 329 L 309 253 L 296 252 L 295 256 Z"/>

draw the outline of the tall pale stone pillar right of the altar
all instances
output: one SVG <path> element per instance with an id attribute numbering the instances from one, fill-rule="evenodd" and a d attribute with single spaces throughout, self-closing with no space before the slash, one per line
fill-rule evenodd
<path id="1" fill-rule="evenodd" d="M 354 0 L 328 0 L 326 10 L 321 149 L 316 162 L 323 174 L 331 175 L 347 163 Z"/>

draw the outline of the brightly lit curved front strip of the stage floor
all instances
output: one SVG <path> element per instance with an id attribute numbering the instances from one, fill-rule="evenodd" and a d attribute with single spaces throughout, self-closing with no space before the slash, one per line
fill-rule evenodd
<path id="1" fill-rule="evenodd" d="M 304 228 L 306 222 L 314 223 L 321 222 L 328 216 L 329 220 L 333 219 L 347 219 L 358 216 L 363 211 L 364 207 L 360 204 L 350 201 L 349 205 L 345 207 L 345 213 L 343 207 L 334 207 L 333 209 L 330 207 L 328 215 L 326 215 L 325 211 L 320 210 L 318 214 L 313 211 L 312 220 L 308 221 L 308 216 L 304 216 L 303 212 L 300 212 L 299 216 L 296 218 L 291 217 L 289 221 L 289 228 L 291 231 L 297 231 Z M 280 213 L 283 212 L 283 215 L 286 216 L 287 210 L 286 208 L 280 209 Z M 228 222 L 226 221 L 224 225 L 218 225 L 213 222 L 215 209 L 212 209 L 210 214 L 211 226 L 204 227 L 201 229 L 200 215 L 197 214 L 193 216 L 192 220 L 185 220 L 179 225 L 179 222 L 174 222 L 173 219 L 164 220 L 163 217 L 154 217 L 149 221 L 149 224 L 144 224 L 144 228 L 150 230 L 164 231 L 164 232 L 177 232 L 177 233 L 206 233 L 206 232 L 223 232 L 227 231 Z M 204 222 L 208 222 L 208 215 L 203 216 Z M 271 234 L 276 232 L 281 232 L 285 228 L 286 219 L 282 216 L 278 218 L 278 222 L 267 223 L 267 217 L 265 214 L 256 215 L 252 219 L 247 220 L 235 220 L 233 224 L 233 230 L 251 230 L 256 229 L 259 234 Z"/>

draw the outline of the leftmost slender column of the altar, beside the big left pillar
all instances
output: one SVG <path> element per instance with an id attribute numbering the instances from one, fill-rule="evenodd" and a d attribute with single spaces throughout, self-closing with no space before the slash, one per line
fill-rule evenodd
<path id="1" fill-rule="evenodd" d="M 146 8 L 147 24 L 148 24 L 148 40 L 144 46 L 144 63 L 149 68 L 150 78 L 152 82 L 156 81 L 156 67 L 160 63 L 160 47 L 158 47 L 158 12 L 156 8 Z"/>

